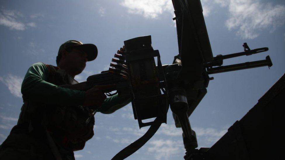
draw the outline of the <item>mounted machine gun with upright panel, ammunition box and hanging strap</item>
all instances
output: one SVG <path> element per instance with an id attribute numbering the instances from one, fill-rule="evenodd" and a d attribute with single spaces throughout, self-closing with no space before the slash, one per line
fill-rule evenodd
<path id="1" fill-rule="evenodd" d="M 81 84 L 87 88 L 93 85 L 118 84 L 117 87 L 106 90 L 106 93 L 128 88 L 132 98 L 133 114 L 138 120 L 139 127 L 150 126 L 144 136 L 121 150 L 113 159 L 124 159 L 142 147 L 161 123 L 166 123 L 169 106 L 173 112 L 175 126 L 183 130 L 185 159 L 189 158 L 197 151 L 195 148 L 198 144 L 188 117 L 207 93 L 209 81 L 213 80 L 209 75 L 272 66 L 269 56 L 265 60 L 222 66 L 224 59 L 257 54 L 267 51 L 268 48 L 251 50 L 244 43 L 244 52 L 213 57 L 200 1 L 172 2 L 179 49 L 173 64 L 161 64 L 159 51 L 152 48 L 151 36 L 137 37 L 124 41 L 124 52 L 115 54 L 116 58 L 112 59 L 115 63 L 110 64 L 109 72 L 90 76 Z M 154 57 L 157 57 L 157 64 Z M 155 120 L 142 122 L 150 118 Z"/>

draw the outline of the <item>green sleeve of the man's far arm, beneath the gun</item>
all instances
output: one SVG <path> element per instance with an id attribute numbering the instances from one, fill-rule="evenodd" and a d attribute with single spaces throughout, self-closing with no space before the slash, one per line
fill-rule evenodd
<path id="1" fill-rule="evenodd" d="M 110 114 L 126 106 L 131 102 L 131 98 L 121 98 L 118 94 L 106 98 L 104 103 L 98 108 L 98 111 L 104 114 Z"/>

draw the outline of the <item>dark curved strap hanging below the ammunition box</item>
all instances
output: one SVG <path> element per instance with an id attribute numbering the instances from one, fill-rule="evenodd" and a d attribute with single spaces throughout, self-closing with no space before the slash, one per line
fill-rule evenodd
<path id="1" fill-rule="evenodd" d="M 159 129 L 161 123 L 162 123 L 161 118 L 157 117 L 153 121 L 152 125 L 147 130 L 147 132 L 141 138 L 139 138 L 138 140 L 136 140 L 135 142 L 131 143 L 126 148 L 121 150 L 119 153 L 117 153 L 112 158 L 112 160 L 125 159 L 129 157 L 131 154 L 133 154 L 135 151 L 140 149 L 140 147 L 142 147 L 148 140 L 150 140 L 150 138 L 152 138 L 154 133 L 156 133 L 156 131 Z"/>

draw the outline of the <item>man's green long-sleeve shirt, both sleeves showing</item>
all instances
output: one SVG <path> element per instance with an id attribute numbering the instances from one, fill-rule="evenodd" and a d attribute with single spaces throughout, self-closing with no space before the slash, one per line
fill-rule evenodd
<path id="1" fill-rule="evenodd" d="M 63 88 L 47 82 L 50 71 L 46 64 L 35 63 L 27 71 L 21 92 L 33 101 L 64 106 L 83 105 L 85 91 Z M 96 97 L 94 97 L 96 98 Z M 130 99 L 122 99 L 118 94 L 105 99 L 98 111 L 110 114 L 127 105 Z"/>

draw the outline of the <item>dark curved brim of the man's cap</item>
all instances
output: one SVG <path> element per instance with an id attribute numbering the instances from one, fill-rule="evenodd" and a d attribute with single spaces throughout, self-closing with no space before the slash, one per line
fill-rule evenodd
<path id="1" fill-rule="evenodd" d="M 87 61 L 93 61 L 97 57 L 98 50 L 94 44 L 74 45 L 73 47 L 83 50 L 85 53 L 87 53 Z"/>

